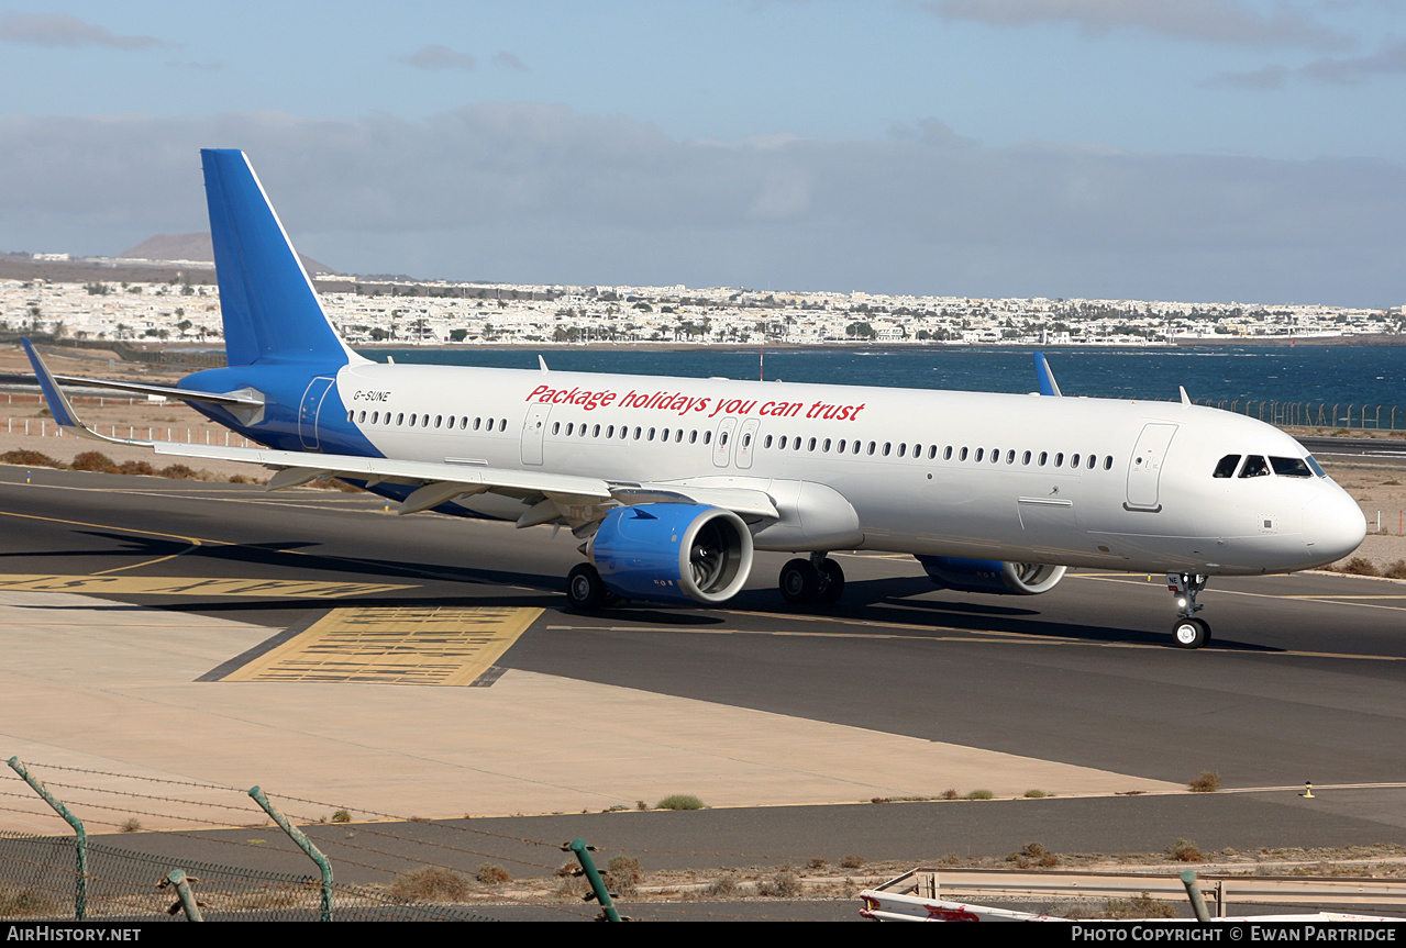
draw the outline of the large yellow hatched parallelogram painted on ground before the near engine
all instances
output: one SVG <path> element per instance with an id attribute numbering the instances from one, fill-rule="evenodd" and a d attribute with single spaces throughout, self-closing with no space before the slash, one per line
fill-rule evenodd
<path id="1" fill-rule="evenodd" d="M 537 621 L 536 608 L 342 608 L 224 681 L 470 685 Z"/>

